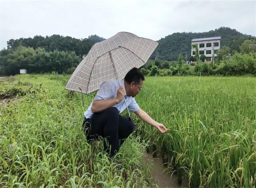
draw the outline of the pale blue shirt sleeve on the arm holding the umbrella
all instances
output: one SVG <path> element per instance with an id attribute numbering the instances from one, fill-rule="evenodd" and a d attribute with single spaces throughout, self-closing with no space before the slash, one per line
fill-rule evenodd
<path id="1" fill-rule="evenodd" d="M 94 100 L 109 100 L 114 98 L 114 84 L 110 81 L 103 82 Z"/>

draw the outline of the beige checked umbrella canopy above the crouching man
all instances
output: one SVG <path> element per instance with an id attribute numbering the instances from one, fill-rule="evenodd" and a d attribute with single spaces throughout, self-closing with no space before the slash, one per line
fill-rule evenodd
<path id="1" fill-rule="evenodd" d="M 128 32 L 95 43 L 76 67 L 66 89 L 88 94 L 106 80 L 122 79 L 133 67 L 144 65 L 157 46 L 156 41 Z"/>

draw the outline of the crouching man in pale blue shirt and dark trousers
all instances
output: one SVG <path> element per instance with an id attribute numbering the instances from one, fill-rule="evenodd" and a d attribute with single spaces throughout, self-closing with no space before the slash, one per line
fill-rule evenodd
<path id="1" fill-rule="evenodd" d="M 142 72 L 133 68 L 126 74 L 124 81 L 120 80 L 121 87 L 118 80 L 103 82 L 88 110 L 84 112 L 83 128 L 87 140 L 98 139 L 99 136 L 106 138 L 109 145 L 104 147 L 110 153 L 111 158 L 134 130 L 134 122 L 130 118 L 119 115 L 126 109 L 123 97 L 126 99 L 130 112 L 134 112 L 140 119 L 156 127 L 161 133 L 167 131 L 163 124 L 154 121 L 141 110 L 134 99 L 142 90 L 144 80 Z"/>

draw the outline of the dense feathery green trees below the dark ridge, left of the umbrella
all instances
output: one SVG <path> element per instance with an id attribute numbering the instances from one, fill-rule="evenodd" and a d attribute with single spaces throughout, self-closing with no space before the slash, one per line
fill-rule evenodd
<path id="1" fill-rule="evenodd" d="M 20 69 L 27 69 L 28 73 L 45 73 L 58 71 L 59 73 L 70 71 L 80 62 L 80 57 L 73 51 L 46 52 L 43 48 L 18 46 L 10 53 L 1 51 L 1 75 L 19 74 Z"/>

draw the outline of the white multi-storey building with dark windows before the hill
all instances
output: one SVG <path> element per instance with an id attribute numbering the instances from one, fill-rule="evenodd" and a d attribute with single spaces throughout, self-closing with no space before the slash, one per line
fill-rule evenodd
<path id="1" fill-rule="evenodd" d="M 192 39 L 191 45 L 196 44 L 198 46 L 198 53 L 206 56 L 206 61 L 212 61 L 212 54 L 217 56 L 217 51 L 220 49 L 221 37 L 208 37 L 200 39 Z M 195 56 L 196 49 L 191 47 L 191 55 Z"/>

